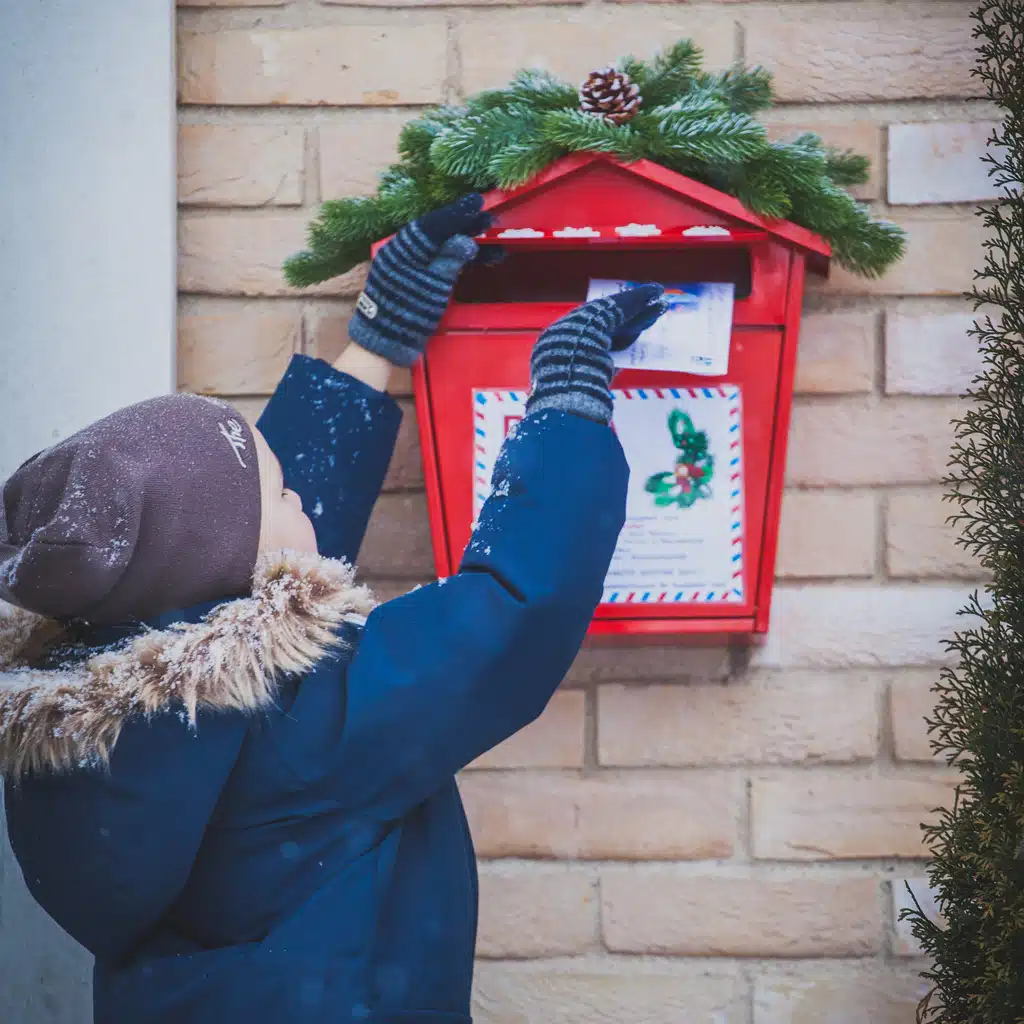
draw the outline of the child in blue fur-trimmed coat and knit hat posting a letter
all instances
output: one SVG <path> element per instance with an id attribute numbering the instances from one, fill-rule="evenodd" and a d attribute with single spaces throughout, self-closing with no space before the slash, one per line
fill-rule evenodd
<path id="1" fill-rule="evenodd" d="M 398 429 L 388 369 L 487 222 L 471 197 L 399 231 L 353 344 L 296 356 L 258 429 L 157 398 L 3 488 L 0 597 L 27 609 L 0 617 L 9 835 L 95 954 L 97 1024 L 470 1020 L 455 775 L 580 648 L 625 516 L 609 348 L 662 308 L 645 286 L 544 332 L 458 575 L 375 608 L 348 562 Z"/>

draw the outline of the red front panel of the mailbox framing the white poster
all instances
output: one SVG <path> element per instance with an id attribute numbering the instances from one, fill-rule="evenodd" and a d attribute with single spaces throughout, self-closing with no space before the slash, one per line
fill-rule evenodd
<path id="1" fill-rule="evenodd" d="M 593 632 L 655 635 L 745 632 L 754 628 L 766 540 L 772 447 L 776 443 L 775 412 L 782 337 L 780 328 L 736 328 L 732 336 L 729 373 L 723 378 L 638 371 L 624 372 L 616 377 L 616 389 L 738 386 L 743 462 L 743 597 L 718 603 L 701 598 L 698 605 L 686 600 L 602 604 Z M 439 575 L 456 571 L 472 530 L 476 482 L 474 392 L 509 390 L 524 393 L 529 380 L 529 354 L 536 338 L 534 331 L 442 333 L 431 341 L 417 373 L 417 404 L 422 418 L 420 434 Z M 784 438 L 781 440 L 784 442 Z"/>

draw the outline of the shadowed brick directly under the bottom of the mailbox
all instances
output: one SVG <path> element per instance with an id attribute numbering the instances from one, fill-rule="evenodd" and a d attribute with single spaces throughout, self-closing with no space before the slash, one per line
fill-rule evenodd
<path id="1" fill-rule="evenodd" d="M 569 670 L 570 684 L 649 680 L 724 679 L 729 674 L 725 647 L 660 644 L 609 646 L 587 644 Z"/>

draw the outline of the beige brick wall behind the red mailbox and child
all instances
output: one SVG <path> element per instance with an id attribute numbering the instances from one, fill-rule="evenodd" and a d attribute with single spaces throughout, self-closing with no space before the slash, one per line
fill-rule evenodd
<path id="1" fill-rule="evenodd" d="M 904 224 L 879 282 L 806 305 L 767 643 L 585 651 L 544 717 L 463 779 L 482 858 L 487 1024 L 910 1024 L 896 923 L 927 899 L 919 823 L 949 799 L 922 718 L 971 581 L 940 502 L 977 369 L 957 295 L 980 253 L 995 111 L 970 77 L 971 5 L 191 0 L 180 26 L 184 388 L 258 414 L 293 351 L 334 357 L 360 272 L 282 281 L 322 199 L 372 189 L 424 103 L 525 65 L 573 80 L 687 35 L 763 62 L 775 133 L 876 163 Z M 409 380 L 361 563 L 383 596 L 431 573 Z"/>

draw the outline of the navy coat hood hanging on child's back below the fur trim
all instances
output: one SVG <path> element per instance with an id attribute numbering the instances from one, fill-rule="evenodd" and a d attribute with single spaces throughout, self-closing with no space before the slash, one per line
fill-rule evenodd
<path id="1" fill-rule="evenodd" d="M 132 719 L 110 767 L 27 778 L 5 795 L 30 892 L 97 958 L 116 963 L 181 892 L 241 749 L 240 715 Z"/>

